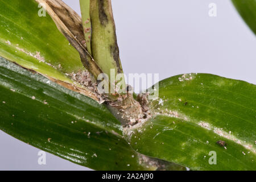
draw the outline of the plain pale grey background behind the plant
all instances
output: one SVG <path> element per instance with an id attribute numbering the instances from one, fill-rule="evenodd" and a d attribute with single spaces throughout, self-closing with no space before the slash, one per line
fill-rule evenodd
<path id="1" fill-rule="evenodd" d="M 199 72 L 256 84 L 256 40 L 229 0 L 112 0 L 125 73 Z M 65 0 L 80 13 L 79 0 Z M 217 17 L 208 16 L 209 3 Z M 86 170 L 0 131 L 0 170 Z"/>

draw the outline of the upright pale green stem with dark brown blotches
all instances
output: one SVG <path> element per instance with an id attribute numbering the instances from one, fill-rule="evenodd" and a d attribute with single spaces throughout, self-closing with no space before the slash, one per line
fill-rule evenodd
<path id="1" fill-rule="evenodd" d="M 110 70 L 123 73 L 110 0 L 80 0 L 87 48 L 110 78 Z M 88 22 L 89 20 L 89 22 Z M 92 32 L 89 29 L 92 28 Z M 91 41 L 88 36 L 91 34 Z M 87 43 L 88 42 L 88 43 Z"/>

